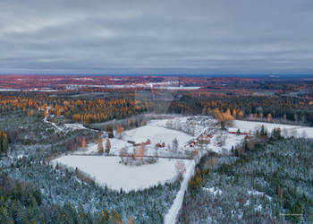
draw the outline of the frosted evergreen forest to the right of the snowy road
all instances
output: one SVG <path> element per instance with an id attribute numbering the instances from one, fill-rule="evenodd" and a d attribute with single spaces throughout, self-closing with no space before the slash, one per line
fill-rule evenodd
<path id="1" fill-rule="evenodd" d="M 219 155 L 216 170 L 203 158 L 179 223 L 312 223 L 313 140 L 272 135 L 239 157 Z"/>

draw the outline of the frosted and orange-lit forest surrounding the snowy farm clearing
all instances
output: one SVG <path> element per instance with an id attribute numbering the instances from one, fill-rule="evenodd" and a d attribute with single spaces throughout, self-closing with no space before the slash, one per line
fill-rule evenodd
<path id="1" fill-rule="evenodd" d="M 78 169 L 49 163 L 98 141 L 99 132 L 112 138 L 120 129 L 166 114 L 214 116 L 223 128 L 226 116 L 312 125 L 309 99 L 206 99 L 182 91 L 175 93 L 179 99 L 168 101 L 112 94 L 105 99 L 30 92 L 0 96 L 1 223 L 162 223 L 180 180 L 125 193 L 98 185 Z M 52 123 L 86 128 L 57 131 Z M 309 139 L 284 139 L 281 131 L 266 134 L 263 129 L 228 154 L 208 153 L 190 180 L 178 222 L 312 221 L 312 147 Z M 288 216 L 293 213 L 301 215 Z"/>

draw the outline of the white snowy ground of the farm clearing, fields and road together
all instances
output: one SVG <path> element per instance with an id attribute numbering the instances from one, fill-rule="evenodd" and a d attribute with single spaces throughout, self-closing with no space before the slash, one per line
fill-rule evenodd
<path id="1" fill-rule="evenodd" d="M 54 125 L 54 124 L 52 124 Z M 146 146 L 145 155 L 154 156 L 156 151 L 159 156 L 177 156 L 178 154 L 187 155 L 190 151 L 199 150 L 199 145 L 190 147 L 190 141 L 195 141 L 199 134 L 211 134 L 213 137 L 205 146 L 209 151 L 230 151 L 232 146 L 239 144 L 245 137 L 244 134 L 229 134 L 229 131 L 241 130 L 241 133 L 254 134 L 256 129 L 265 125 L 267 133 L 270 134 L 276 127 L 281 128 L 283 136 L 309 137 L 313 138 L 313 128 L 293 125 L 279 125 L 272 123 L 260 123 L 250 121 L 234 120 L 233 125 L 227 130 L 222 131 L 220 125 L 215 119 L 209 116 L 177 116 L 168 119 L 152 120 L 148 125 L 141 126 L 123 133 L 120 138 L 115 133 L 115 137 L 110 139 L 112 155 L 119 155 L 123 148 L 132 152 L 136 147 L 132 146 L 133 142 L 151 141 Z M 66 128 L 83 128 L 83 126 L 72 125 Z M 103 134 L 103 142 L 106 145 L 106 133 Z M 176 138 L 179 147 L 178 151 L 170 149 L 173 139 Z M 156 149 L 157 142 L 165 142 L 165 148 Z M 78 152 L 75 152 L 78 153 Z M 90 142 L 86 151 L 80 153 L 95 154 L 97 153 L 97 142 Z M 200 152 L 199 155 L 203 155 Z M 200 157 L 200 156 L 199 156 Z M 198 158 L 199 159 L 199 158 Z M 109 188 L 129 192 L 157 185 L 164 184 L 166 181 L 173 181 L 176 177 L 175 163 L 179 159 L 158 159 L 155 164 L 146 164 L 143 166 L 125 166 L 119 163 L 119 157 L 90 156 L 90 155 L 69 155 L 55 159 L 53 162 L 59 162 L 71 168 L 79 168 L 83 172 L 95 177 L 100 185 L 107 185 Z M 165 223 L 173 223 L 182 206 L 183 195 L 187 189 L 188 182 L 194 171 L 194 160 L 183 160 L 186 167 L 186 174 L 183 176 L 181 189 L 178 192 L 171 209 L 165 215 Z M 211 194 L 220 194 L 220 190 L 214 187 L 206 188 Z M 251 192 L 249 194 L 258 194 Z"/>

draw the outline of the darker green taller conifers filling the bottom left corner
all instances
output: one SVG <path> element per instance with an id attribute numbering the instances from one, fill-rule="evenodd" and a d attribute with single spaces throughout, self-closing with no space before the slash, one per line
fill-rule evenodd
<path id="1" fill-rule="evenodd" d="M 0 172 L 0 223 L 122 223 L 122 219 L 114 210 L 91 215 L 81 206 L 47 203 L 38 187 L 13 181 Z"/>

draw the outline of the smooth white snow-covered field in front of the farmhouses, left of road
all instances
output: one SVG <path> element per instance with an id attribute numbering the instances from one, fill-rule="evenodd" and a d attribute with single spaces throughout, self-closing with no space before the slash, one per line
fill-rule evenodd
<path id="1" fill-rule="evenodd" d="M 144 166 L 125 166 L 119 163 L 118 157 L 106 156 L 63 156 L 53 160 L 69 168 L 79 168 L 83 172 L 95 177 L 100 185 L 129 192 L 144 189 L 157 184 L 165 184 L 176 177 L 175 163 L 180 159 L 159 159 L 155 164 Z M 188 168 L 193 160 L 182 159 Z"/>

